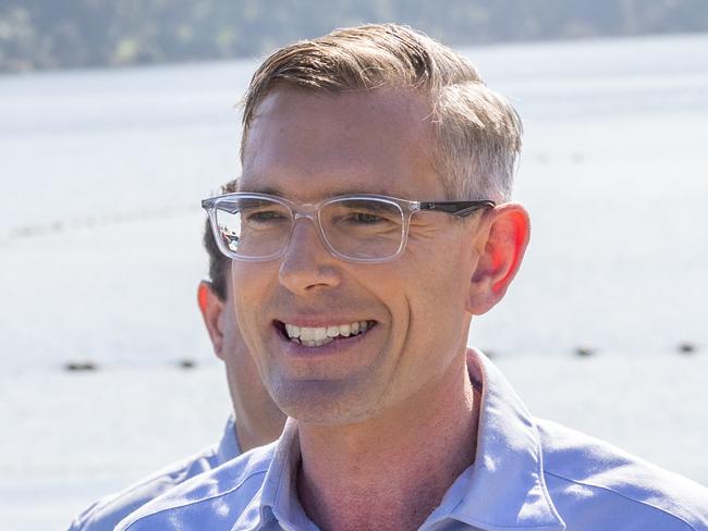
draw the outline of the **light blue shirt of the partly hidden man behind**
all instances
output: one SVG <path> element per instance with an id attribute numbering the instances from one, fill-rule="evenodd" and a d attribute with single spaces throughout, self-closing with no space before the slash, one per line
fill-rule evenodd
<path id="1" fill-rule="evenodd" d="M 122 492 L 102 497 L 72 521 L 68 531 L 113 531 L 115 524 L 147 502 L 197 474 L 217 468 L 241 454 L 233 416 L 218 444 L 138 481 Z"/>

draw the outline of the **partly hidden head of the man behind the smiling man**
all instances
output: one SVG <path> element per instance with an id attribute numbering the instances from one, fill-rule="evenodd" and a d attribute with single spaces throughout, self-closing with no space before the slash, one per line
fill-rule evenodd
<path id="1" fill-rule="evenodd" d="M 235 192 L 237 182 L 231 181 L 222 193 Z M 202 281 L 197 302 L 209 333 L 215 354 L 224 362 L 227 380 L 234 410 L 241 448 L 274 440 L 280 433 L 284 416 L 273 404 L 260 381 L 258 369 L 243 342 L 233 308 L 231 260 L 217 247 L 207 222 L 204 247 L 209 256 L 210 281 Z M 263 437 L 266 440 L 263 440 Z"/>

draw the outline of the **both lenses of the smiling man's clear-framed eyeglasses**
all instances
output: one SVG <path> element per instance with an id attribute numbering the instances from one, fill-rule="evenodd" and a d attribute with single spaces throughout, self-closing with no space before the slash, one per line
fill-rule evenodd
<path id="1" fill-rule="evenodd" d="M 288 244 L 295 220 L 284 203 L 268 198 L 223 198 L 215 206 L 217 227 L 234 256 L 265 258 Z M 354 259 L 382 259 L 396 254 L 403 240 L 403 212 L 394 202 L 374 198 L 328 201 L 318 220 L 326 243 Z"/>

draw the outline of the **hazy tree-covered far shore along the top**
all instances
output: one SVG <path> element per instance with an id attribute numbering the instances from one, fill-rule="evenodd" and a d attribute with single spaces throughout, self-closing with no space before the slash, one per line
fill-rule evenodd
<path id="1" fill-rule="evenodd" d="M 263 55 L 365 22 L 451 45 L 708 30 L 706 0 L 0 0 L 0 71 Z"/>

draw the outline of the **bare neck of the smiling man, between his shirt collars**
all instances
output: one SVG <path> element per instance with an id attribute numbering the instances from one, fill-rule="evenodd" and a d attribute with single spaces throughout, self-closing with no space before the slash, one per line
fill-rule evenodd
<path id="1" fill-rule="evenodd" d="M 474 461 L 478 399 L 462 366 L 365 422 L 298 423 L 298 495 L 320 529 L 417 529 L 426 520 Z"/>

